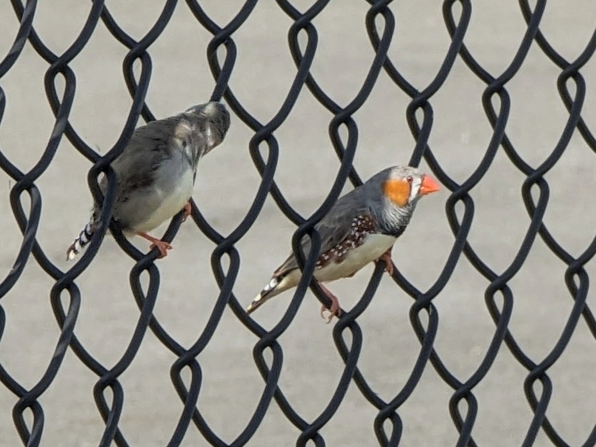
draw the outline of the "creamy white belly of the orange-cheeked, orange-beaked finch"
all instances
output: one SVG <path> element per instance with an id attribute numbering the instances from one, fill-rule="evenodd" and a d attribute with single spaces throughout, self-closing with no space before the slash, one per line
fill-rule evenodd
<path id="1" fill-rule="evenodd" d="M 315 278 L 321 282 L 334 281 L 350 276 L 368 262 L 374 261 L 395 243 L 395 236 L 368 235 L 361 246 L 351 249 L 342 262 L 331 261 L 329 264 L 315 270 Z"/>

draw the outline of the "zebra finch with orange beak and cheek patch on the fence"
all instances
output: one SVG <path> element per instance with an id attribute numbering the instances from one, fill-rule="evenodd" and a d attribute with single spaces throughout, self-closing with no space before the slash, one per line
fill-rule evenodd
<path id="1" fill-rule="evenodd" d="M 340 197 L 331 210 L 315 225 L 321 236 L 321 250 L 313 276 L 331 300 L 327 323 L 339 315 L 339 301 L 322 283 L 352 277 L 371 261 L 383 260 L 393 274 L 391 249 L 408 226 L 418 200 L 439 190 L 432 179 L 417 168 L 394 166 L 375 174 L 361 186 Z M 305 255 L 311 248 L 305 236 Z M 246 311 L 250 314 L 265 301 L 295 287 L 302 272 L 294 254 L 274 271 Z M 321 317 L 327 310 L 321 308 Z"/>

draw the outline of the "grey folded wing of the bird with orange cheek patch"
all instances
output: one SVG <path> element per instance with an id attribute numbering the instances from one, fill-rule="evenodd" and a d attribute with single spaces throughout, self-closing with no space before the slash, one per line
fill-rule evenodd
<path id="1" fill-rule="evenodd" d="M 331 210 L 315 225 L 315 229 L 321 236 L 321 249 L 318 255 L 346 239 L 352 230 L 353 219 L 359 214 L 368 213 L 368 206 L 362 200 L 362 194 L 358 189 L 340 197 Z M 308 256 L 311 251 L 311 239 L 308 236 L 302 238 L 302 249 L 305 256 Z M 284 275 L 295 268 L 298 268 L 298 261 L 291 253 L 287 260 L 275 270 L 274 276 Z"/>

